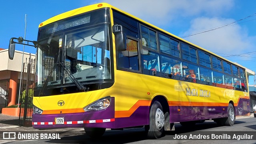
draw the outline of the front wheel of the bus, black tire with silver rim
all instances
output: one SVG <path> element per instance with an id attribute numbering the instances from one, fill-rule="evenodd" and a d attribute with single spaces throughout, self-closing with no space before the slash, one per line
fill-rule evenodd
<path id="1" fill-rule="evenodd" d="M 148 138 L 161 138 L 164 132 L 164 112 L 160 102 L 155 101 L 150 108 L 149 126 L 145 126 Z"/>

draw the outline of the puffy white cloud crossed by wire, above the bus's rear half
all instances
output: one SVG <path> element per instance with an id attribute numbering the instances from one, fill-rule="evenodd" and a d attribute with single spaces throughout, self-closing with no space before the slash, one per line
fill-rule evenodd
<path id="1" fill-rule="evenodd" d="M 216 26 L 221 26 L 233 19 L 225 18 L 196 18 L 191 21 L 189 30 L 184 32 L 182 36 L 194 34 L 202 30 L 207 30 Z M 225 54 L 240 54 L 252 48 L 252 37 L 249 37 L 246 30 L 239 25 L 228 26 L 217 30 L 212 30 L 202 34 L 189 36 L 184 38 L 198 46 L 207 50 Z"/>

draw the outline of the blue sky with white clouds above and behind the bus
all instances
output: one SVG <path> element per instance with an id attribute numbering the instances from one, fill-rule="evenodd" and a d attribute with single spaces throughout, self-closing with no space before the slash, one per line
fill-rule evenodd
<path id="1" fill-rule="evenodd" d="M 184 39 L 256 71 L 255 0 L 5 0 L 0 9 L 0 48 L 8 48 L 12 37 L 24 37 L 25 14 L 26 39 L 36 40 L 38 25 L 44 20 L 99 2 L 108 2 L 180 37 L 218 28 Z M 225 24 L 229 25 L 219 28 Z M 22 51 L 23 46 L 16 45 L 16 50 Z M 25 52 L 36 50 L 25 46 Z M 249 84 L 254 84 L 253 76 Z"/>

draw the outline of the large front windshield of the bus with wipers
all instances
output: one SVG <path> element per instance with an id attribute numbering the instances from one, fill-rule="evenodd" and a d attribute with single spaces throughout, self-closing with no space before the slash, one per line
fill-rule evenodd
<path id="1" fill-rule="evenodd" d="M 108 24 L 63 28 L 61 33 L 58 26 L 56 22 L 52 34 L 38 41 L 36 89 L 110 80 Z"/>

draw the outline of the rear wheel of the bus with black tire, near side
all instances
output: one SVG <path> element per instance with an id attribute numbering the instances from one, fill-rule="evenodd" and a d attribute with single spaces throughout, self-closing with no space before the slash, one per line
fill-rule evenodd
<path id="1" fill-rule="evenodd" d="M 228 117 L 214 120 L 219 126 L 233 126 L 235 123 L 235 110 L 232 104 L 228 104 Z"/>

